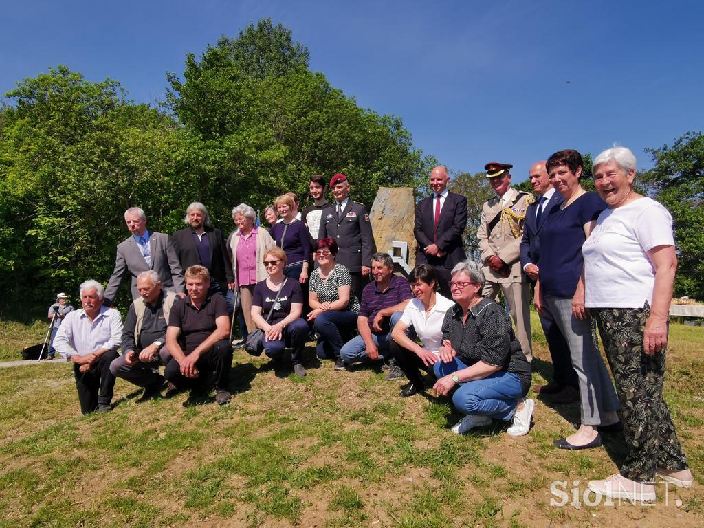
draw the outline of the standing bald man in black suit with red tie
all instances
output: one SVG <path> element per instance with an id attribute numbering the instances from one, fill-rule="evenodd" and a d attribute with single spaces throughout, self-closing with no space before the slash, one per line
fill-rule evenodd
<path id="1" fill-rule="evenodd" d="M 467 199 L 448 191 L 449 181 L 447 169 L 442 165 L 430 172 L 433 194 L 418 204 L 413 234 L 418 241 L 415 264 L 432 265 L 440 293 L 451 299 L 452 268 L 467 258 L 462 244 L 462 234 L 467 227 Z"/>

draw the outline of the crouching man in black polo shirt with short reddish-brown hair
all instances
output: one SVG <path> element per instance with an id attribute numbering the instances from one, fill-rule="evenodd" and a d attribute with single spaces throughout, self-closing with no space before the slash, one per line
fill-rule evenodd
<path id="1" fill-rule="evenodd" d="M 230 403 L 232 345 L 227 339 L 230 318 L 222 295 L 210 293 L 210 275 L 201 265 L 184 273 L 188 295 L 177 301 L 169 315 L 166 347 L 172 361 L 164 376 L 178 388 L 192 389 L 191 402 L 208 393 L 205 371 L 215 370 L 215 401 Z"/>

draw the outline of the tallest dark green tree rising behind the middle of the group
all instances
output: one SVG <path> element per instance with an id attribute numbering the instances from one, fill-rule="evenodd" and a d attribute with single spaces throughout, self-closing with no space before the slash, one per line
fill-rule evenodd
<path id="1" fill-rule="evenodd" d="M 288 30 L 263 21 L 200 60 L 189 54 L 182 79 L 169 75 L 171 111 L 203 139 L 203 184 L 221 189 L 209 204 L 216 218 L 240 201 L 260 208 L 283 192 L 305 196 L 314 173 L 345 172 L 353 199 L 367 206 L 379 186 L 424 182 L 434 158 L 414 148 L 401 119 L 359 108 L 291 46 Z M 233 51 L 243 49 L 261 58 L 256 65 Z"/>

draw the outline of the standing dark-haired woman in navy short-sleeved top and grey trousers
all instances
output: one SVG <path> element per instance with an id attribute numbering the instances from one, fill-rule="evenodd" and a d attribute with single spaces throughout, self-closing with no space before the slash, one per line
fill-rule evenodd
<path id="1" fill-rule="evenodd" d="M 618 422 L 616 392 L 591 338 L 589 313 L 584 308 L 582 244 L 606 203 L 582 188 L 579 179 L 583 166 L 582 156 L 574 150 L 556 152 L 546 163 L 550 181 L 565 201 L 547 211 L 548 220 L 540 234 L 534 296 L 536 310 L 555 320 L 569 344 L 579 379 L 582 424 L 576 433 L 555 441 L 561 449 L 601 446 L 599 429 Z"/>

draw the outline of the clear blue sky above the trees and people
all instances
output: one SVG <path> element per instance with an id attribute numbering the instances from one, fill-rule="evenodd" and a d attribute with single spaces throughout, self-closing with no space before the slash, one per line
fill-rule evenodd
<path id="1" fill-rule="evenodd" d="M 360 106 L 401 116 L 415 145 L 453 170 L 554 151 L 595 156 L 704 130 L 701 1 L 24 1 L 6 3 L 0 92 L 66 64 L 163 99 L 222 34 L 259 18 L 289 27 L 310 68 Z"/>

